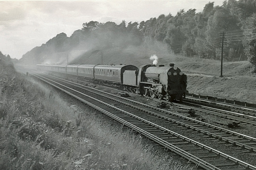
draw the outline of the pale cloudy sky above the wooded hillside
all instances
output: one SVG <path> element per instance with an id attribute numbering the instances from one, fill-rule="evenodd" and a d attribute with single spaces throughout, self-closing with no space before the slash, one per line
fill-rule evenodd
<path id="1" fill-rule="evenodd" d="M 202 12 L 210 0 L 57 0 L 1 1 L 0 51 L 11 58 L 45 44 L 59 33 L 68 37 L 89 21 L 119 24 L 141 22 L 161 14 L 172 14 L 190 8 Z M 224 0 L 212 0 L 221 6 Z"/>

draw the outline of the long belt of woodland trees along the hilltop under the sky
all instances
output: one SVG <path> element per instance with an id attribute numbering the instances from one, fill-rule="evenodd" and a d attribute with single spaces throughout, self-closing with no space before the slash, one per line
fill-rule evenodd
<path id="1" fill-rule="evenodd" d="M 40 63 L 53 53 L 145 46 L 155 41 L 175 54 L 219 60 L 223 42 L 226 61 L 249 60 L 256 66 L 256 0 L 228 0 L 222 6 L 209 2 L 199 13 L 180 10 L 175 16 L 160 15 L 140 23 L 90 21 L 82 26 L 70 37 L 61 33 L 33 48 L 20 61 Z"/>

